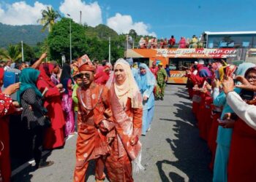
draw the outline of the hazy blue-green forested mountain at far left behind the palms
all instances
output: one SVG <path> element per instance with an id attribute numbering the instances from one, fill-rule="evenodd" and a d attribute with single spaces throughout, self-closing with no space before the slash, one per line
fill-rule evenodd
<path id="1" fill-rule="evenodd" d="M 48 31 L 42 32 L 42 25 L 5 25 L 0 23 L 0 47 L 9 44 L 25 44 L 35 46 L 48 36 Z"/>

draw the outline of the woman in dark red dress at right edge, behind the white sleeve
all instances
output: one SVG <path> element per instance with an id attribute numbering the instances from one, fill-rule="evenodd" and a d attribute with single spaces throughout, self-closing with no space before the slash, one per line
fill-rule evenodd
<path id="1" fill-rule="evenodd" d="M 256 67 L 249 68 L 245 78 L 250 84 L 256 85 Z M 256 98 L 246 100 L 256 105 Z M 227 168 L 229 182 L 256 181 L 256 130 L 246 124 L 242 119 L 234 124 L 230 146 L 230 158 Z"/>

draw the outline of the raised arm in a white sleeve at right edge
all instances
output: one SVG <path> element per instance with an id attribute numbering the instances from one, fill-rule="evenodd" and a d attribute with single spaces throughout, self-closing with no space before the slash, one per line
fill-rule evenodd
<path id="1" fill-rule="evenodd" d="M 245 90 L 253 90 L 256 92 L 256 86 L 249 84 L 249 82 L 243 76 L 237 76 L 241 85 L 236 85 Z M 227 103 L 233 109 L 233 111 L 244 121 L 249 127 L 256 130 L 256 106 L 249 105 L 241 99 L 240 95 L 234 92 L 233 79 L 228 77 L 222 82 L 223 91 L 227 95 Z"/>

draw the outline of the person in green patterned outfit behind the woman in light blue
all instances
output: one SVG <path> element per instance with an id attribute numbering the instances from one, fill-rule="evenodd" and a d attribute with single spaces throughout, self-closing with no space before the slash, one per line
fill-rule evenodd
<path id="1" fill-rule="evenodd" d="M 162 63 L 158 64 L 158 71 L 157 71 L 157 94 L 156 100 L 164 100 L 165 96 L 165 82 L 167 82 L 167 73 L 165 68 L 162 68 Z"/>

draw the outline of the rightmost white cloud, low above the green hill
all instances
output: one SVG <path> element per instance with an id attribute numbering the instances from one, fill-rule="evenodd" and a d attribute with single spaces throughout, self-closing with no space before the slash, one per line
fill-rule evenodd
<path id="1" fill-rule="evenodd" d="M 154 32 L 148 32 L 149 25 L 146 25 L 143 22 L 133 23 L 130 15 L 116 13 L 114 17 L 108 18 L 107 25 L 110 28 L 113 28 L 117 33 L 129 33 L 129 30 L 134 29 L 139 35 L 157 36 Z"/>

